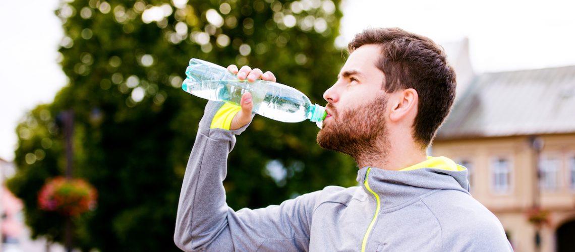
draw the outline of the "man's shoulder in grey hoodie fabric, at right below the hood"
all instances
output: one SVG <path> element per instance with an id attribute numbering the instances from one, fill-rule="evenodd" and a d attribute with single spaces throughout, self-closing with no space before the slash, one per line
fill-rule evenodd
<path id="1" fill-rule="evenodd" d="M 511 248 L 497 216 L 469 194 L 440 190 L 422 201 L 439 222 L 444 249 L 509 251 Z"/>

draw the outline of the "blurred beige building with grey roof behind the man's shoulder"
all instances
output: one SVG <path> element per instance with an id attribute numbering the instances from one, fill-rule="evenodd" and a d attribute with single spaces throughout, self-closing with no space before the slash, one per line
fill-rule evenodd
<path id="1" fill-rule="evenodd" d="M 575 251 L 575 66 L 474 77 L 431 154 L 467 166 L 515 251 Z M 539 228 L 534 207 L 549 212 Z"/>

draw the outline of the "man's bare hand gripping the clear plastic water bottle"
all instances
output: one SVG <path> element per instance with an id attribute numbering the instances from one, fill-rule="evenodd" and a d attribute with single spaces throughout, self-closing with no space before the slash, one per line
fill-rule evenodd
<path id="1" fill-rule="evenodd" d="M 259 68 L 251 69 L 247 65 L 241 67 L 239 71 L 237 70 L 236 65 L 229 65 L 228 71 L 231 73 L 237 73 L 237 79 L 248 80 L 248 82 L 255 82 L 258 79 L 275 82 L 274 73 L 270 71 L 263 73 Z M 251 111 L 254 108 L 254 103 L 252 103 L 250 92 L 246 92 L 241 96 L 240 106 L 241 110 L 233 117 L 232 123 L 229 126 L 230 130 L 237 130 L 251 122 Z"/>

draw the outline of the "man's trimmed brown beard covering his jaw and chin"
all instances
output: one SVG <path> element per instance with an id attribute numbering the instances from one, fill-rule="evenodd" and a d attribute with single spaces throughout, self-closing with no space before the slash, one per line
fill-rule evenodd
<path id="1" fill-rule="evenodd" d="M 386 156 L 389 148 L 385 126 L 386 103 L 387 98 L 382 96 L 355 110 L 342 111 L 336 111 L 328 104 L 326 108 L 334 116 L 317 133 L 317 144 L 324 149 L 348 154 L 358 162 Z"/>

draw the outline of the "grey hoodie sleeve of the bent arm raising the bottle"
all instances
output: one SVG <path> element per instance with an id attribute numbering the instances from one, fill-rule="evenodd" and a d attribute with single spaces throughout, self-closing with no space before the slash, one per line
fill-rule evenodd
<path id="1" fill-rule="evenodd" d="M 228 153 L 247 125 L 238 130 L 210 129 L 223 103 L 209 102 L 187 163 L 179 197 L 174 242 L 185 251 L 306 251 L 317 193 L 279 206 L 233 211 L 225 203 L 222 181 Z"/>

